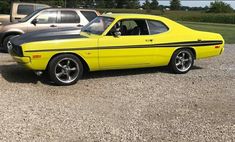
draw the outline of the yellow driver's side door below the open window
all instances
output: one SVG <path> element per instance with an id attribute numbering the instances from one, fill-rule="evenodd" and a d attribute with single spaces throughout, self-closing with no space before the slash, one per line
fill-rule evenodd
<path id="1" fill-rule="evenodd" d="M 101 69 L 120 69 L 152 66 L 155 48 L 152 36 L 104 36 L 99 39 Z"/>

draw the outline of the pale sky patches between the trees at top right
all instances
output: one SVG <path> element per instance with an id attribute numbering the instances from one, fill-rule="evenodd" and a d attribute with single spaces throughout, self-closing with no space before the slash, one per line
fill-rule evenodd
<path id="1" fill-rule="evenodd" d="M 145 0 L 140 0 L 141 3 L 143 3 Z M 182 6 L 191 6 L 191 7 L 204 7 L 209 6 L 210 2 L 213 2 L 214 0 L 181 0 Z M 229 3 L 233 9 L 235 9 L 235 0 L 222 0 L 226 3 Z M 158 0 L 159 5 L 169 5 L 170 0 Z"/>

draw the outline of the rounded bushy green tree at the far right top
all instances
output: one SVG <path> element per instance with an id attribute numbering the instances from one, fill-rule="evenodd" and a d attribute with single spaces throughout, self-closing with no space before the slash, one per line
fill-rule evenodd
<path id="1" fill-rule="evenodd" d="M 215 2 L 211 2 L 209 11 L 212 13 L 230 13 L 233 12 L 233 8 L 230 4 L 227 4 L 220 0 L 215 0 Z"/>

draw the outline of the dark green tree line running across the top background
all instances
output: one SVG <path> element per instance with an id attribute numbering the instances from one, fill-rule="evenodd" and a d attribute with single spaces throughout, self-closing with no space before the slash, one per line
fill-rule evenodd
<path id="1" fill-rule="evenodd" d="M 180 0 L 170 0 L 170 6 L 159 5 L 158 0 L 145 0 L 142 4 L 139 0 L 0 0 L 0 13 L 9 13 L 12 2 L 31 2 L 44 3 L 52 7 L 68 7 L 68 8 L 125 8 L 137 9 L 141 8 L 150 12 L 151 10 L 206 10 L 214 13 L 233 12 L 233 8 L 221 1 L 215 0 L 206 7 L 186 7 L 181 5 Z"/>

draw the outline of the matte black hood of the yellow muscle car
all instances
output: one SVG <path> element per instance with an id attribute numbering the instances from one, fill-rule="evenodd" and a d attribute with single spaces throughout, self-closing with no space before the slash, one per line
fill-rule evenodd
<path id="1" fill-rule="evenodd" d="M 14 45 L 22 45 L 34 41 L 48 41 L 71 38 L 86 38 L 80 35 L 80 28 L 61 28 L 61 29 L 47 29 L 22 34 L 11 39 Z"/>

